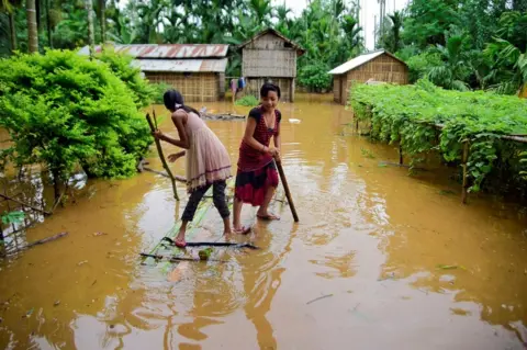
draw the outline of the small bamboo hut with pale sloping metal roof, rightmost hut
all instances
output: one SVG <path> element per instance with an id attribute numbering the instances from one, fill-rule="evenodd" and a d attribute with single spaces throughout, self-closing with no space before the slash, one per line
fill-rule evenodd
<path id="1" fill-rule="evenodd" d="M 333 94 L 337 103 L 346 104 L 354 82 L 368 80 L 399 84 L 408 83 L 408 66 L 384 49 L 363 54 L 329 71 L 333 78 Z"/>

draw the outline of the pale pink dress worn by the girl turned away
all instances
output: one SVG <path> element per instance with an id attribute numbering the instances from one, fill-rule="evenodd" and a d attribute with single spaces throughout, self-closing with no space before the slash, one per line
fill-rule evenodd
<path id="1" fill-rule="evenodd" d="M 224 181 L 231 178 L 231 158 L 217 136 L 195 113 L 187 113 L 186 131 L 190 142 L 187 150 L 187 189 Z"/>

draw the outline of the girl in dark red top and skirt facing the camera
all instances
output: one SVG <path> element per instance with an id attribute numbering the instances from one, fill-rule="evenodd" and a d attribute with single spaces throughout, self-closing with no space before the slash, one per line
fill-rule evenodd
<path id="1" fill-rule="evenodd" d="M 233 226 L 236 233 L 247 229 L 240 224 L 243 203 L 259 206 L 260 219 L 280 219 L 269 213 L 268 207 L 278 187 L 278 171 L 273 161 L 280 161 L 280 121 L 277 110 L 280 88 L 265 83 L 260 89 L 261 103 L 249 112 L 245 135 L 239 147 L 238 171 L 236 174 Z M 274 148 L 269 147 L 271 137 Z"/>

